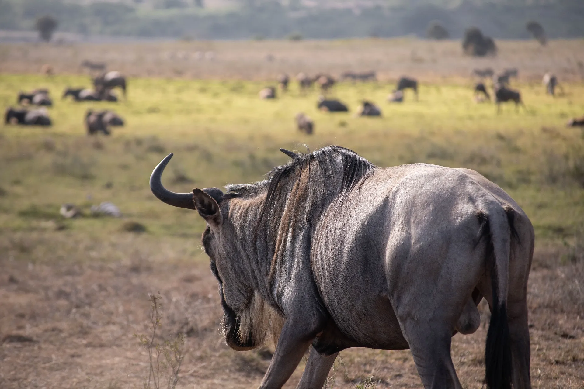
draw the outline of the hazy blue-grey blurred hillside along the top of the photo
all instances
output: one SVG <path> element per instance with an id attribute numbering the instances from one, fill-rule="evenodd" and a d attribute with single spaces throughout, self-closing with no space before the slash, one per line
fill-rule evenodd
<path id="1" fill-rule="evenodd" d="M 459 38 L 469 26 L 494 38 L 584 36 L 582 0 L 0 0 L 1 30 L 32 30 L 52 15 L 58 31 L 143 38 L 349 38 L 425 36 L 441 22 Z"/>

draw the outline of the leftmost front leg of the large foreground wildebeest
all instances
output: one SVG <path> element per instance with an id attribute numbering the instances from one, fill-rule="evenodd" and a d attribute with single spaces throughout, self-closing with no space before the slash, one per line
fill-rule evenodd
<path id="1" fill-rule="evenodd" d="M 288 318 L 260 389 L 280 389 L 294 373 L 316 333 L 312 328 L 307 328 L 307 325 L 295 323 Z"/>

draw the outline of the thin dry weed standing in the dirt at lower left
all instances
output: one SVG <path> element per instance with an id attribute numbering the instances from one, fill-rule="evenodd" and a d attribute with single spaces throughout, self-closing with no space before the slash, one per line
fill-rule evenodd
<path id="1" fill-rule="evenodd" d="M 144 389 L 161 389 L 161 380 L 164 385 L 166 376 L 166 389 L 175 389 L 179 380 L 180 365 L 185 358 L 185 335 L 178 334 L 171 341 L 159 342 L 157 340 L 158 328 L 162 327 L 162 307 L 160 295 L 150 295 L 150 334 L 134 334 L 140 344 L 148 352 L 150 360 L 148 380 L 144 380 Z M 162 356 L 162 358 L 161 358 Z"/>

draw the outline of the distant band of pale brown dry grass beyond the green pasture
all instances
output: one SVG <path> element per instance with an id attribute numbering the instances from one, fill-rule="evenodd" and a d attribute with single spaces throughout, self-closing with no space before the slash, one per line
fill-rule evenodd
<path id="1" fill-rule="evenodd" d="M 458 40 L 371 38 L 338 41 L 159 41 L 110 44 L 1 44 L 0 72 L 80 73 L 84 59 L 107 62 L 130 76 L 197 79 L 273 79 L 280 72 L 315 74 L 378 72 L 382 80 L 403 74 L 429 80 L 467 77 L 474 68 L 516 67 L 523 80 L 540 81 L 552 71 L 560 81 L 584 79 L 584 40 L 497 41 L 496 57 L 463 55 Z M 197 52 L 199 54 L 197 54 Z M 206 59 L 205 53 L 213 58 Z M 202 55 L 203 58 L 197 59 Z M 270 56 L 272 60 L 270 61 Z"/>

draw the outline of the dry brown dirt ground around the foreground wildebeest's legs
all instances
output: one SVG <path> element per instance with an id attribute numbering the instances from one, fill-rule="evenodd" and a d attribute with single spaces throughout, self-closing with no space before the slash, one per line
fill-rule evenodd
<path id="1" fill-rule="evenodd" d="M 224 344 L 217 285 L 207 258 L 183 254 L 196 240 L 162 244 L 126 237 L 81 247 L 58 232 L 2 240 L 0 387 L 142 387 L 148 355 L 134 334 L 148 334 L 149 293 L 162 296 L 162 337 L 186 334 L 179 388 L 257 387 L 270 351 L 235 352 Z M 86 258 L 39 258 L 44 250 Z M 106 260 L 112 251 L 123 259 Z M 584 316 L 573 301 L 581 302 L 582 296 L 569 293 L 583 290 L 562 285 L 574 277 L 582 280 L 584 269 L 581 262 L 557 265 L 560 257 L 559 251 L 540 250 L 531 272 L 531 376 L 534 388 L 581 389 Z M 488 309 L 481 305 L 481 311 L 484 323 L 475 334 L 453 338 L 453 360 L 465 388 L 482 387 Z M 340 355 L 328 387 L 354 388 L 371 378 L 378 388 L 421 387 L 409 351 L 349 349 Z M 287 387 L 296 385 L 303 366 Z"/>

